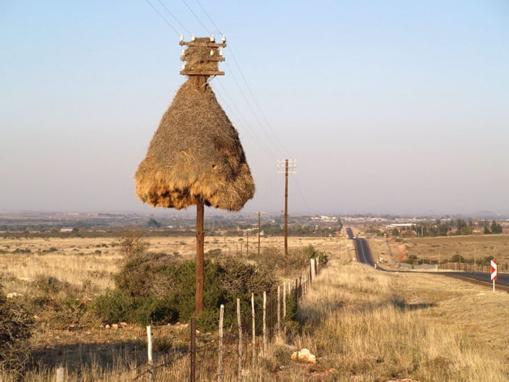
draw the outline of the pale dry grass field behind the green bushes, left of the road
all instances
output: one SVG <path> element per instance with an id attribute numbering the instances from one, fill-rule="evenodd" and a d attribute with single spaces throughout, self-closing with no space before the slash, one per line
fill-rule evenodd
<path id="1" fill-rule="evenodd" d="M 239 240 L 241 239 L 241 240 Z M 195 238 L 149 237 L 149 252 L 180 254 L 183 259 L 194 258 Z M 320 252 L 347 256 L 346 245 L 337 238 L 289 238 L 289 248 L 313 245 Z M 256 253 L 258 240 L 213 236 L 205 239 L 205 252 L 220 249 L 223 254 L 245 257 Z M 282 251 L 282 237 L 261 238 L 261 250 L 275 247 Z M 31 280 L 47 275 L 61 281 L 82 286 L 90 282 L 94 290 L 112 287 L 112 275 L 119 270 L 121 252 L 118 238 L 0 238 L 0 275 L 6 293 L 26 293 Z"/>

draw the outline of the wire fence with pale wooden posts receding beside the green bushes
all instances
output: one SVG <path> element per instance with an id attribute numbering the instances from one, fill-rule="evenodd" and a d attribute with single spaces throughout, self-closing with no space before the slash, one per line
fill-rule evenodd
<path id="1" fill-rule="evenodd" d="M 218 333 L 197 337 L 194 319 L 190 322 L 188 346 L 158 351 L 153 359 L 151 327 L 147 327 L 145 356 L 140 357 L 136 367 L 128 367 L 116 372 L 114 379 L 121 381 L 162 381 L 172 373 L 188 381 L 206 380 L 217 376 L 218 381 L 251 380 L 253 370 L 261 359 L 268 355 L 268 345 L 278 334 L 287 332 L 287 324 L 294 318 L 299 301 L 308 293 L 312 282 L 323 266 L 319 258 L 310 259 L 309 267 L 293 280 L 285 280 L 263 296 L 252 294 L 250 312 L 237 300 L 238 326 L 222 327 L 222 312 L 218 316 Z M 256 297 L 256 298 L 255 298 Z M 255 300 L 262 303 L 255 304 Z M 221 311 L 224 307 L 221 306 Z M 249 322 L 248 321 L 249 317 Z M 184 370 L 184 372 L 183 372 Z M 187 370 L 187 371 L 186 371 Z M 187 374 L 183 376 L 184 374 Z M 235 373 L 235 374 L 233 374 Z M 158 379 L 158 375 L 160 379 Z M 56 382 L 66 381 L 66 369 L 54 370 Z M 110 380 L 112 374 L 104 374 L 103 379 Z M 1 379 L 0 379 L 1 381 Z"/>

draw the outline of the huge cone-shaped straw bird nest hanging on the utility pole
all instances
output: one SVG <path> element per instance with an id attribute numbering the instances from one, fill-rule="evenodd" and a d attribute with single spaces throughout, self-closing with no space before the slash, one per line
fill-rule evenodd
<path id="1" fill-rule="evenodd" d="M 239 211 L 254 181 L 238 132 L 208 84 L 191 76 L 162 116 L 136 171 L 136 193 L 151 206 L 186 208 L 199 201 Z"/>

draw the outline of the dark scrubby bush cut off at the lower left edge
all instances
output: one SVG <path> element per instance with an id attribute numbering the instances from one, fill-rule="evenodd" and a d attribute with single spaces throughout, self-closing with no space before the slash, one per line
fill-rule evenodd
<path id="1" fill-rule="evenodd" d="M 0 374 L 21 379 L 30 360 L 31 326 L 27 310 L 0 289 Z"/>

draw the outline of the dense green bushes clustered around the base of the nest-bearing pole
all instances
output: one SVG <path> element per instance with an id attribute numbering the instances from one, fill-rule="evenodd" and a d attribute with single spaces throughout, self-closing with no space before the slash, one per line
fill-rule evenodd
<path id="1" fill-rule="evenodd" d="M 251 293 L 261 310 L 261 295 L 278 280 L 271 271 L 236 259 L 204 261 L 204 312 L 197 326 L 217 326 L 220 305 L 225 305 L 225 325 L 236 323 L 236 299 L 241 298 L 243 322 L 250 322 Z M 176 261 L 167 254 L 140 253 L 126 259 L 114 277 L 116 289 L 96 299 L 94 309 L 108 322 L 165 323 L 189 321 L 195 315 L 196 263 Z"/>

